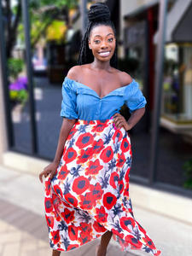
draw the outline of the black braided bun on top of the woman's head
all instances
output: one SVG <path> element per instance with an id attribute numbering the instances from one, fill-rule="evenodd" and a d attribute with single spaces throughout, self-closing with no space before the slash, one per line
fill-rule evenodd
<path id="1" fill-rule="evenodd" d="M 110 20 L 111 14 L 105 3 L 94 3 L 90 5 L 87 16 L 90 21 L 102 21 Z"/>

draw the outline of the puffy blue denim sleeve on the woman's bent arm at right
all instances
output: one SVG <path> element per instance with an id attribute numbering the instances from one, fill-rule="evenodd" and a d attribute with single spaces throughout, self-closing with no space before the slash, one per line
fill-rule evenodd
<path id="1" fill-rule="evenodd" d="M 130 113 L 139 108 L 144 108 L 147 104 L 145 97 L 141 90 L 139 90 L 139 84 L 134 80 L 130 84 L 129 93 L 127 93 L 125 99 L 125 105 L 129 108 Z M 128 85 L 129 87 L 129 85 Z"/>

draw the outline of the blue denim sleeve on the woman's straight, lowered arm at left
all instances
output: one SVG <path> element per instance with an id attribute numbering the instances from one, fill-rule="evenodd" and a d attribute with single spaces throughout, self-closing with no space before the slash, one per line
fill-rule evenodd
<path id="1" fill-rule="evenodd" d="M 65 79 L 62 84 L 61 117 L 67 119 L 79 119 L 77 108 L 77 95 L 75 84 L 71 79 Z"/>

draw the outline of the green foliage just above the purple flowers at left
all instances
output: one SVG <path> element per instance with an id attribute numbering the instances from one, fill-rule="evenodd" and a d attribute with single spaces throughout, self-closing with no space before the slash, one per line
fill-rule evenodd
<path id="1" fill-rule="evenodd" d="M 20 59 L 12 59 L 8 60 L 8 73 L 9 78 L 17 79 L 19 73 L 23 70 L 24 61 Z"/>

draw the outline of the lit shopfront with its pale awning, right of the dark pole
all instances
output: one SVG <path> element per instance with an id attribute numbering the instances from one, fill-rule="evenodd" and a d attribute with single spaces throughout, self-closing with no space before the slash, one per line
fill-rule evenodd
<path id="1" fill-rule="evenodd" d="M 191 22 L 191 1 L 177 1 L 167 16 L 160 119 L 162 126 L 189 142 L 192 142 Z M 156 38 L 157 35 L 154 42 Z"/>

